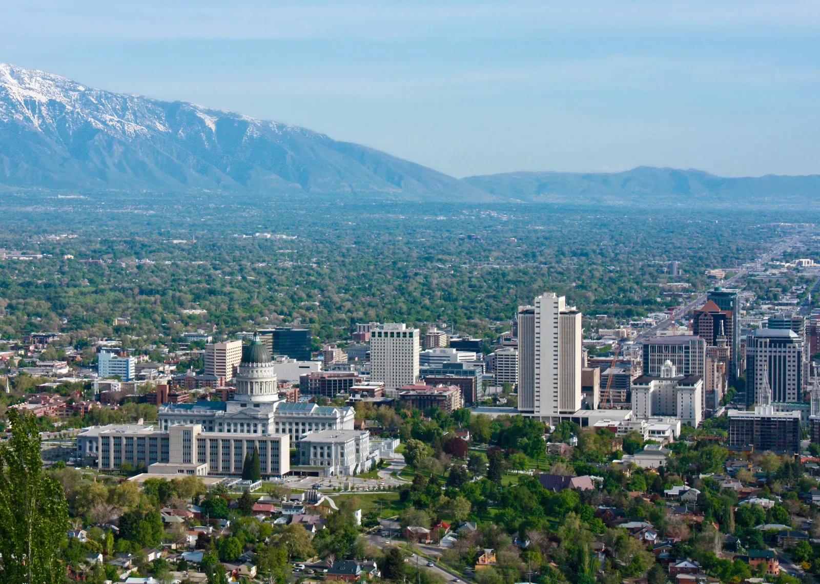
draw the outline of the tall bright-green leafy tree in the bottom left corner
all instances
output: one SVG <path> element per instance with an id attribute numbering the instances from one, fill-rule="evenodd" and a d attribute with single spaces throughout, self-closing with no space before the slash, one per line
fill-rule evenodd
<path id="1" fill-rule="evenodd" d="M 34 419 L 16 410 L 7 417 L 11 439 L 0 445 L 0 581 L 62 584 L 66 496 L 43 473 Z"/>

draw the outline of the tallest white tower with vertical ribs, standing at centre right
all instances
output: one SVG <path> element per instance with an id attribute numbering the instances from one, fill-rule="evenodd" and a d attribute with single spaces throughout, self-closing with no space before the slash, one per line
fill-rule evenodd
<path id="1" fill-rule="evenodd" d="M 522 413 L 552 422 L 581 409 L 581 341 L 581 313 L 565 297 L 542 294 L 518 309 Z"/>

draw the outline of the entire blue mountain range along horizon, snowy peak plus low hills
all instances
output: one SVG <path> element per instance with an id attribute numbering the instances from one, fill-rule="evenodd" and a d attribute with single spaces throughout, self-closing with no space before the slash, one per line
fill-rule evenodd
<path id="1" fill-rule="evenodd" d="M 817 201 L 820 194 L 820 176 L 723 178 L 651 167 L 459 180 L 298 126 L 114 94 L 5 64 L 0 64 L 0 185 L 476 203 Z"/>

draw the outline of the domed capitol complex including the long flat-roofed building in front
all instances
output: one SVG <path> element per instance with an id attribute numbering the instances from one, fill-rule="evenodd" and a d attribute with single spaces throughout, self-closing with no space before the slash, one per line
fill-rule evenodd
<path id="1" fill-rule="evenodd" d="M 286 403 L 276 387 L 271 354 L 258 339 L 244 347 L 235 382 L 236 393 L 229 401 L 163 405 L 156 428 L 86 428 L 77 437 L 78 458 L 96 462 L 101 470 L 118 470 L 127 463 L 152 474 L 236 476 L 242 473 L 245 455 L 257 450 L 262 476 L 280 477 L 291 470 L 291 448 L 304 440 L 303 449 L 313 451 L 312 433 L 323 444 L 328 431 L 341 431 L 339 440 L 349 440 L 353 408 Z M 367 432 L 361 434 L 356 443 L 362 448 L 356 449 L 353 464 L 348 448 L 347 460 L 313 460 L 322 468 L 304 470 L 328 476 L 371 468 L 375 459 L 367 447 Z"/>

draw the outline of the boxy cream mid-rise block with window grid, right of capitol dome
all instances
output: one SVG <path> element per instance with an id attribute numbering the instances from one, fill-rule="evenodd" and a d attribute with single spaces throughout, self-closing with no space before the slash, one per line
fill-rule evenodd
<path id="1" fill-rule="evenodd" d="M 381 325 L 370 334 L 371 381 L 398 390 L 418 380 L 419 331 L 402 323 Z"/>

